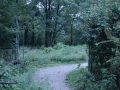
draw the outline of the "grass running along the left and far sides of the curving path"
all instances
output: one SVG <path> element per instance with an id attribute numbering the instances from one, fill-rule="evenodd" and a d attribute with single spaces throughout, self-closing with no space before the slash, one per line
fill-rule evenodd
<path id="1" fill-rule="evenodd" d="M 20 60 L 25 63 L 26 67 L 18 65 L 9 68 L 9 74 L 5 77 L 9 77 L 9 79 L 18 83 L 9 88 L 12 88 L 11 90 L 52 90 L 47 82 L 36 83 L 31 80 L 33 73 L 40 67 L 85 62 L 87 61 L 85 49 L 86 45 L 66 46 L 63 44 L 57 44 L 53 48 L 40 47 L 33 49 L 25 47 L 25 58 L 23 60 L 21 48 Z"/>

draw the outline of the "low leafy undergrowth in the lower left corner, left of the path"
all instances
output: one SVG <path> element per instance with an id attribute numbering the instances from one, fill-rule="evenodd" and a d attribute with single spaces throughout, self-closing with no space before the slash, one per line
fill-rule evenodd
<path id="1" fill-rule="evenodd" d="M 43 90 L 44 87 L 50 87 L 47 82 L 36 82 L 33 80 L 33 73 L 36 70 L 34 67 L 23 67 L 22 65 L 12 65 L 4 68 L 4 61 L 0 62 L 0 71 L 5 73 L 0 77 L 2 82 L 16 82 L 16 84 L 0 84 L 1 90 Z M 46 90 L 46 89 L 44 89 Z"/>

